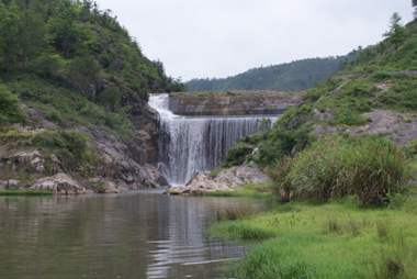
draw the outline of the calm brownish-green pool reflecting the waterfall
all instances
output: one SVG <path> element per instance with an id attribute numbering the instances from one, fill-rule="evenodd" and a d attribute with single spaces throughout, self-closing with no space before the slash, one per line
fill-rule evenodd
<path id="1" fill-rule="evenodd" d="M 0 278 L 221 278 L 246 247 L 210 239 L 215 209 L 261 210 L 232 198 L 0 198 Z"/>

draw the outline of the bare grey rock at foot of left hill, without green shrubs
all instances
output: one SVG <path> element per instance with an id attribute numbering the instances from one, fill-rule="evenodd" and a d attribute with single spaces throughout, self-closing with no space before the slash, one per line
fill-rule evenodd
<path id="1" fill-rule="evenodd" d="M 27 109 L 36 118 L 45 113 L 38 109 Z M 146 112 L 144 112 L 146 111 Z M 136 116 L 142 118 L 136 136 L 126 143 L 114 135 L 84 126 L 71 127 L 90 135 L 88 145 L 93 153 L 90 164 L 83 164 L 74 176 L 69 176 L 59 158 L 24 144 L 0 145 L 0 190 L 33 189 L 57 194 L 79 194 L 89 192 L 115 193 L 122 189 L 159 188 L 168 186 L 165 177 L 149 163 L 157 160 L 157 125 L 153 112 L 143 109 Z M 149 115 L 148 115 L 149 114 Z M 42 120 L 42 119 L 41 119 Z M 31 126 L 16 126 L 22 134 L 36 134 L 48 130 L 36 119 Z M 23 175 L 22 181 L 14 178 Z M 72 174 L 72 172 L 71 172 Z M 93 178 L 88 178 L 93 176 Z M 33 182 L 35 181 L 35 182 Z"/>

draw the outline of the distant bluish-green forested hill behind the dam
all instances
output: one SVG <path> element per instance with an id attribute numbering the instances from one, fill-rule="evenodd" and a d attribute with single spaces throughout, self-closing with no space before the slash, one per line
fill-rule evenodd
<path id="1" fill-rule="evenodd" d="M 354 56 L 350 56 L 353 58 Z M 187 82 L 190 92 L 227 90 L 300 91 L 324 81 L 349 60 L 349 56 L 311 58 L 288 64 L 253 68 L 228 78 L 192 79 Z"/>

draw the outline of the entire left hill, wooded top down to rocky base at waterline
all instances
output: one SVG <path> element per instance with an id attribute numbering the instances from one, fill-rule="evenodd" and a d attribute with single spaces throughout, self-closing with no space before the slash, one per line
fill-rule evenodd
<path id="1" fill-rule="evenodd" d="M 166 186 L 146 102 L 183 90 L 93 1 L 0 0 L 0 192 Z"/>

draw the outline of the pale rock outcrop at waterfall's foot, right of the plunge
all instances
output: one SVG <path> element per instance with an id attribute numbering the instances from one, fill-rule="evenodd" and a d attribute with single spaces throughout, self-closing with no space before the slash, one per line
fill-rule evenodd
<path id="1" fill-rule="evenodd" d="M 210 171 L 199 172 L 183 187 L 174 187 L 167 190 L 166 194 L 202 194 L 213 191 L 234 191 L 249 183 L 269 183 L 269 177 L 259 171 L 253 164 L 252 167 L 241 166 L 225 169 L 214 178 Z"/>

